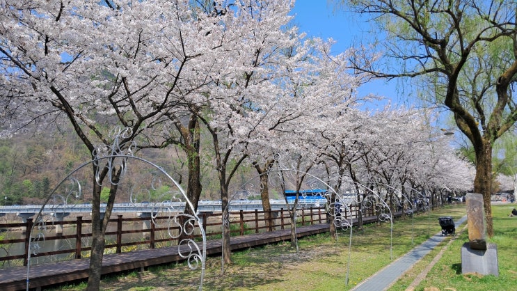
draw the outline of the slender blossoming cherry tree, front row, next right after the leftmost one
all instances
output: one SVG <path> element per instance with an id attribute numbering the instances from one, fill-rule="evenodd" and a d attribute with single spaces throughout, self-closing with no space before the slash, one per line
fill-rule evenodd
<path id="1" fill-rule="evenodd" d="M 278 72 L 285 65 L 282 49 L 299 42 L 296 28 L 287 29 L 292 1 L 239 1 L 218 6 L 225 19 L 225 37 L 218 50 L 209 86 L 191 107 L 212 136 L 223 217 L 228 213 L 228 187 L 248 156 L 250 132 L 260 125 L 263 104 L 273 102 L 280 87 Z M 208 68 L 208 67 L 205 67 Z M 230 164 L 230 162 L 232 162 Z M 225 226 L 223 258 L 230 263 L 230 233 Z"/>

